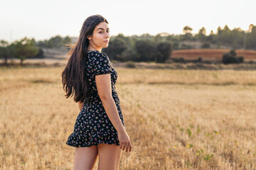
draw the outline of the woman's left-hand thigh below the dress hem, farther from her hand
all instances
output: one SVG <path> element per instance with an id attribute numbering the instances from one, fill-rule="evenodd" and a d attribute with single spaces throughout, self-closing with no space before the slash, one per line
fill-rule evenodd
<path id="1" fill-rule="evenodd" d="M 73 170 L 91 170 L 97 161 L 97 146 L 76 147 Z"/>

